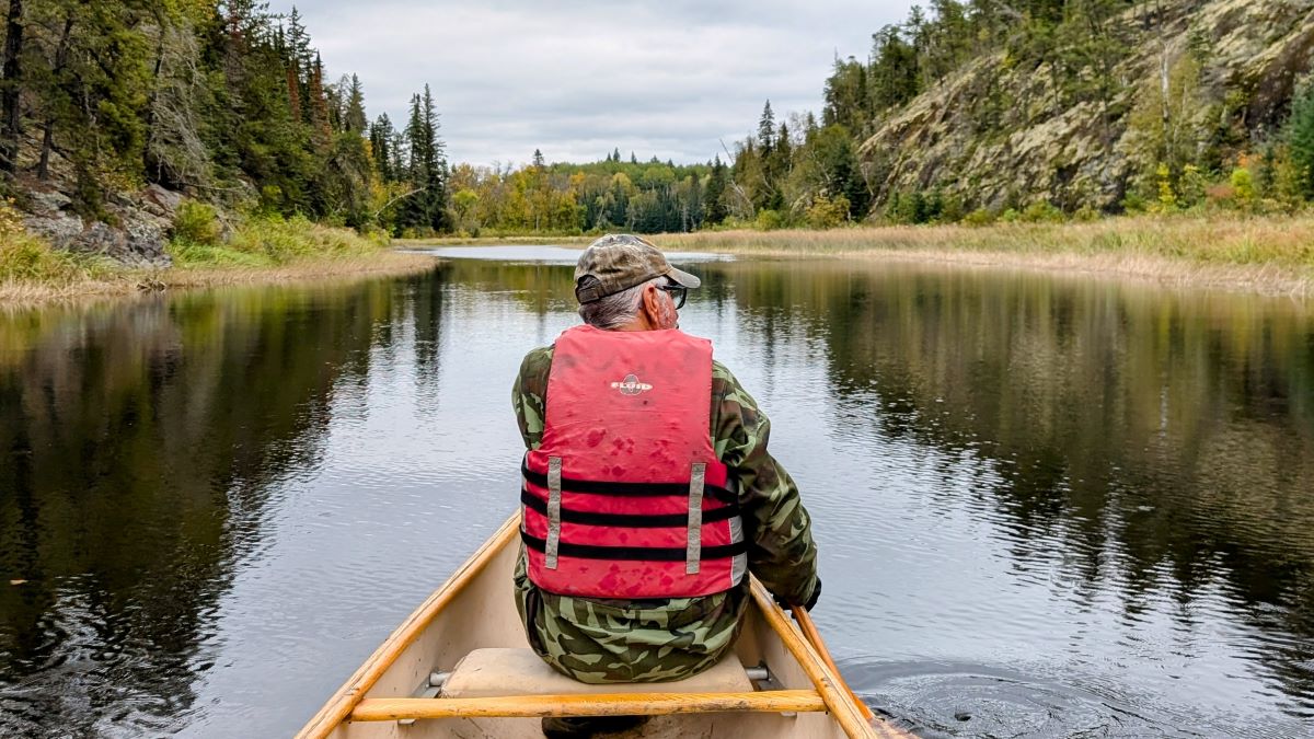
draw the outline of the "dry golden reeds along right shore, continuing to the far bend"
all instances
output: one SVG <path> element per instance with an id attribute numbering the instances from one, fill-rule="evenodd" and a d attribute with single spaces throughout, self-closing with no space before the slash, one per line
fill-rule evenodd
<path id="1" fill-rule="evenodd" d="M 434 238 L 424 246 L 576 245 L 590 235 Z M 858 226 L 830 230 L 712 230 L 660 234 L 670 251 L 720 251 L 778 258 L 890 259 L 1060 272 L 1221 288 L 1263 295 L 1314 296 L 1314 216 L 1122 217 L 1093 222 L 989 226 Z"/>

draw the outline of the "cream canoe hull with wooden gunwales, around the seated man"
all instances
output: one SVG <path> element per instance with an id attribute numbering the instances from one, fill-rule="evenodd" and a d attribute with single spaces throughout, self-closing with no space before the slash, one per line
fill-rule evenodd
<path id="1" fill-rule="evenodd" d="M 426 601 L 376 654 L 352 676 L 306 725 L 300 738 L 331 736 L 332 739 L 541 739 L 539 718 L 426 718 L 413 723 L 397 721 L 350 721 L 361 701 L 374 698 L 407 698 L 427 685 L 435 671 L 449 671 L 466 654 L 484 647 L 528 648 L 524 629 L 515 609 L 512 572 L 519 546 L 518 517 L 497 533 L 461 571 Z M 758 586 L 759 588 L 759 586 Z M 845 736 L 899 736 L 903 732 L 872 728 L 861 719 L 857 709 L 841 697 L 834 682 L 819 672 L 815 654 L 802 654 L 798 634 L 783 622 L 783 614 L 765 600 L 765 590 L 754 592 L 756 606 L 749 609 L 736 652 L 745 665 L 767 664 L 775 689 L 816 690 L 830 713 L 703 713 L 657 715 L 641 728 L 625 734 L 635 739 L 675 736 L 761 736 L 841 739 Z M 774 610 L 774 614 L 767 613 Z M 782 626 L 783 623 L 783 626 Z M 782 634 L 782 629 L 790 632 Z M 791 639 L 791 634 L 792 638 Z M 790 643 L 792 642 L 792 643 Z M 807 648 L 808 647 L 802 647 Z M 804 665 L 799 655 L 812 659 Z M 809 676 L 811 672 L 811 676 Z M 815 677 L 821 677 L 819 680 Z M 660 693 L 661 684 L 652 692 Z M 837 715 L 842 714 L 842 715 Z M 848 721 L 841 721 L 846 718 Z M 344 721 L 348 719 L 348 721 Z M 848 723 L 848 728 L 842 726 Z M 861 726 L 857 726 L 861 723 Z"/>

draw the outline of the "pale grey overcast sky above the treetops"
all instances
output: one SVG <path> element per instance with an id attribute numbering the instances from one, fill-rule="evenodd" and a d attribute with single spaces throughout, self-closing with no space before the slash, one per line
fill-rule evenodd
<path id="1" fill-rule="evenodd" d="M 448 158 L 704 162 L 757 128 L 770 99 L 820 112 L 834 54 L 913 0 L 301 0 L 328 74 L 356 72 L 371 116 L 405 122 L 430 83 Z M 292 3 L 275 0 L 275 11 Z"/>

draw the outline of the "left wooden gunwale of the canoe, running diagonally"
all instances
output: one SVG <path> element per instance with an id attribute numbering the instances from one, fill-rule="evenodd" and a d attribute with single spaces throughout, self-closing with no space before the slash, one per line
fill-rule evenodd
<path id="1" fill-rule="evenodd" d="M 393 661 L 406 651 L 407 647 L 419 639 L 420 634 L 428 629 L 434 618 L 442 611 L 461 590 L 474 580 L 487 567 L 493 558 L 502 551 L 520 530 L 520 514 L 516 513 L 502 523 L 487 542 L 480 547 L 474 555 L 465 561 L 447 579 L 445 583 L 431 594 L 396 631 L 392 632 L 374 654 L 350 677 L 347 682 L 334 693 L 328 703 L 319 709 L 319 713 L 310 719 L 298 734 L 297 739 L 323 739 L 347 719 L 352 709 L 361 701 L 365 693 L 378 682 L 384 672 L 392 667 Z"/>

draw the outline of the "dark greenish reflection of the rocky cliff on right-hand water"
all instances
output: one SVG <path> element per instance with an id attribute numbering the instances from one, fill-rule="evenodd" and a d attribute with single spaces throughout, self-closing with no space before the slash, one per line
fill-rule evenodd
<path id="1" fill-rule="evenodd" d="M 1309 312 L 1047 276 L 729 271 L 741 306 L 792 305 L 825 335 L 836 392 L 880 408 L 850 421 L 988 460 L 1018 556 L 1058 540 L 1076 581 L 1127 583 L 1129 609 L 1219 584 L 1298 635 L 1273 667 L 1314 693 Z"/>

